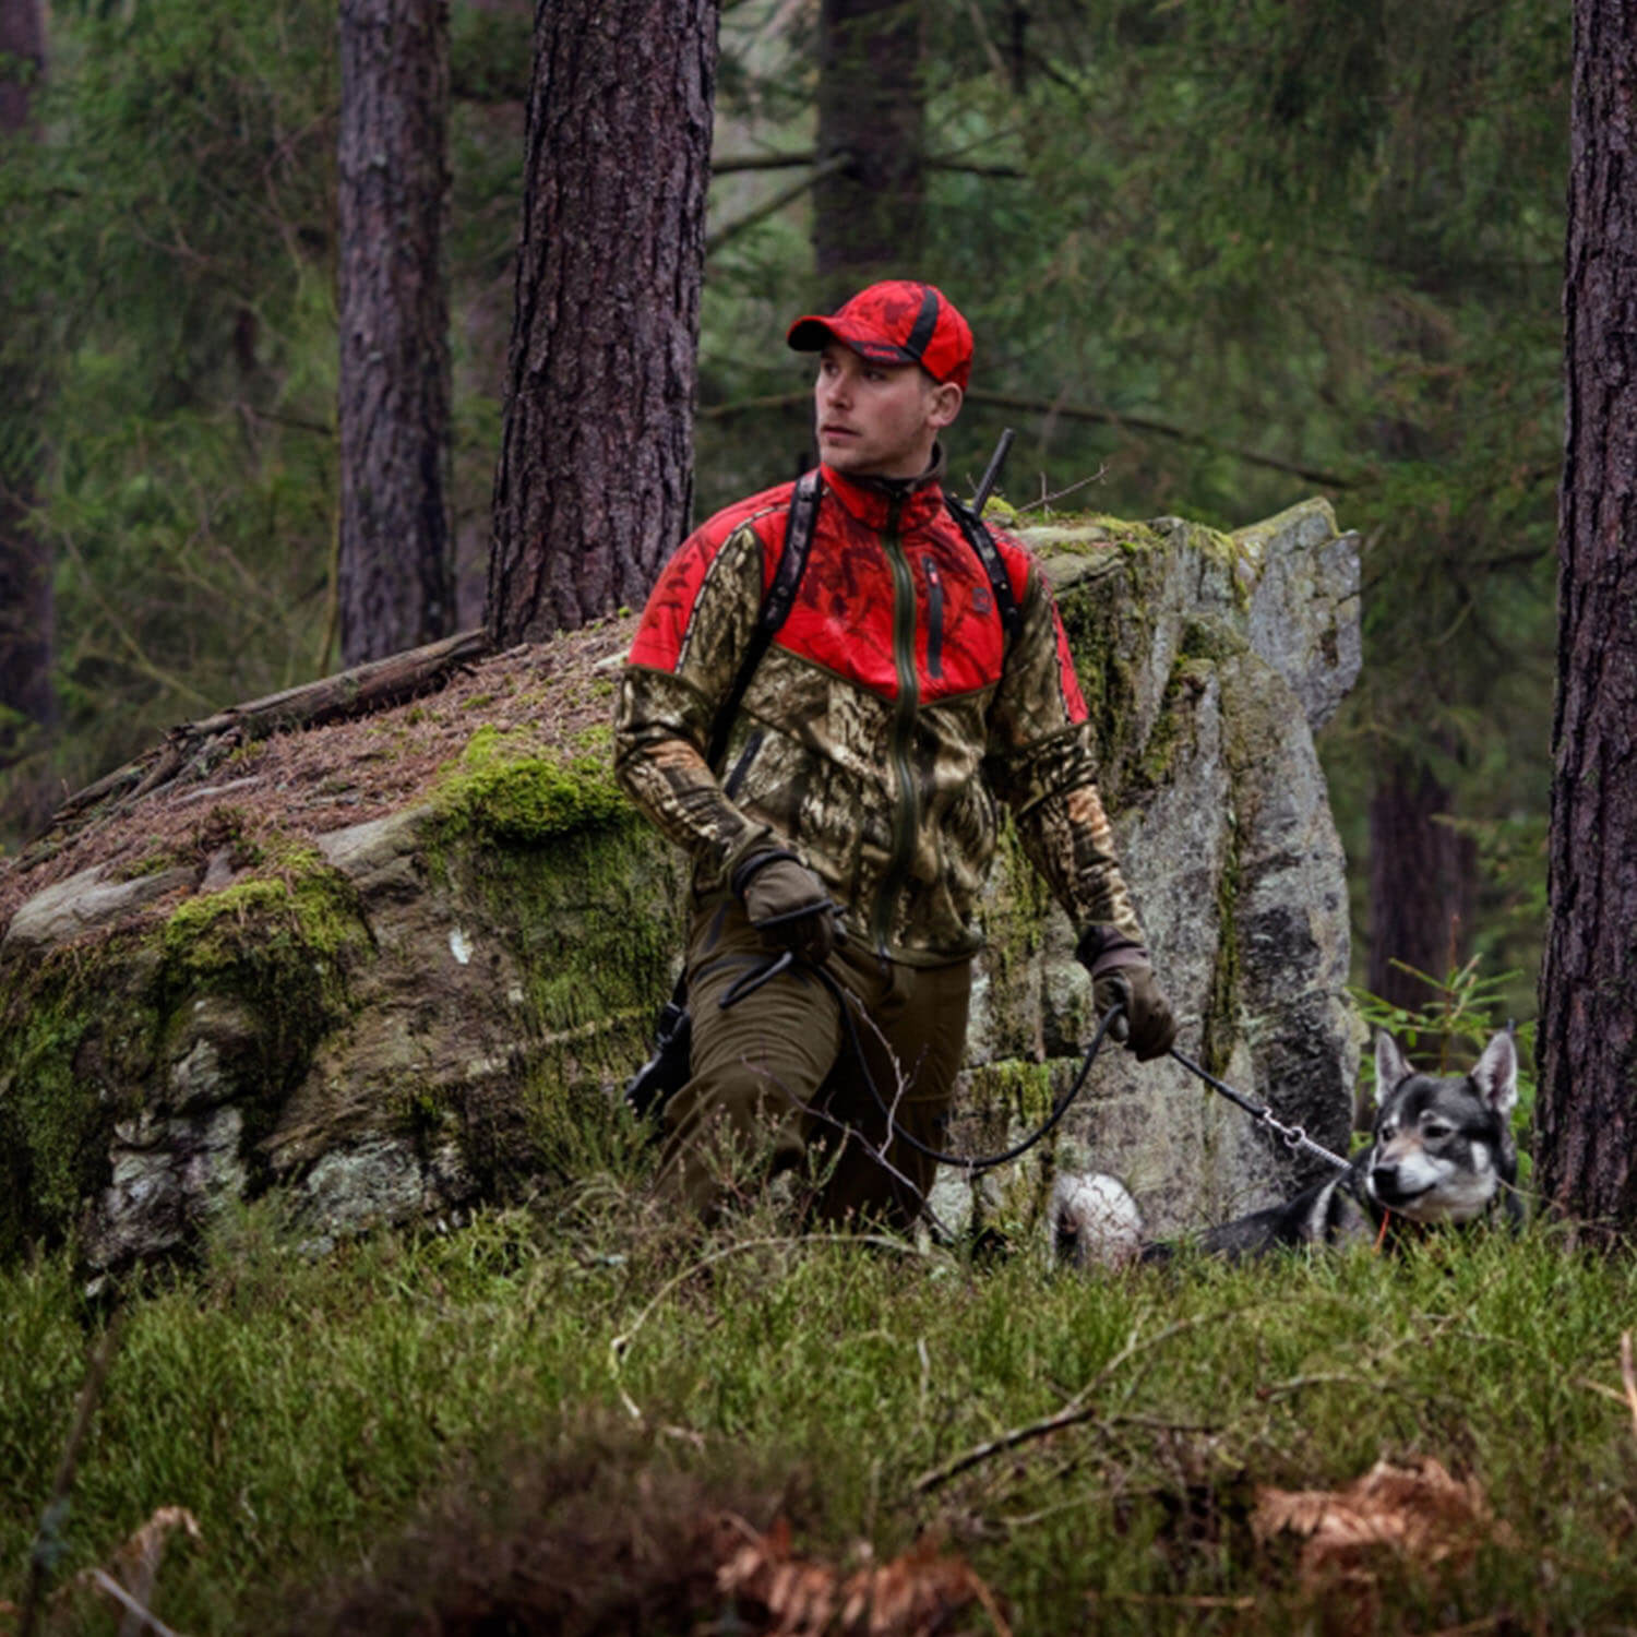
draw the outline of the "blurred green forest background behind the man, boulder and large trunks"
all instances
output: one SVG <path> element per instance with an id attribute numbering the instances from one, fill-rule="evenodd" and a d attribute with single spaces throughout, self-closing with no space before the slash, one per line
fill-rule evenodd
<path id="1" fill-rule="evenodd" d="M 1364 537 L 1365 670 L 1323 742 L 1355 976 L 1423 1005 L 1391 963 L 1475 958 L 1532 1015 L 1567 8 L 915 11 L 882 64 L 913 116 L 897 270 L 979 339 L 956 485 L 1015 424 L 1020 504 L 1233 527 L 1328 494 Z M 483 619 L 532 23 L 450 11 L 457 629 Z M 818 26 L 818 0 L 722 5 L 696 516 L 809 458 L 782 331 L 846 293 Z M 0 558 L 51 586 L 0 634 L 47 648 L 49 694 L 0 720 L 13 850 L 169 725 L 339 661 L 334 5 L 59 0 L 44 44 L 0 146 Z"/>

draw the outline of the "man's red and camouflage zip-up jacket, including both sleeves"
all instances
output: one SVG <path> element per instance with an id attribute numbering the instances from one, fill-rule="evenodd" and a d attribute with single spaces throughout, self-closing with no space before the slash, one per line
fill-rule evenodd
<path id="1" fill-rule="evenodd" d="M 699 897 L 725 891 L 756 848 L 789 846 L 850 936 L 927 966 L 982 945 L 999 799 L 1092 948 L 1141 945 L 1039 565 L 997 534 L 1020 611 L 1008 645 L 936 473 L 822 478 L 800 589 L 720 778 L 704 751 L 779 563 L 792 485 L 717 512 L 660 575 L 620 678 L 616 771 L 632 800 L 692 856 Z"/>

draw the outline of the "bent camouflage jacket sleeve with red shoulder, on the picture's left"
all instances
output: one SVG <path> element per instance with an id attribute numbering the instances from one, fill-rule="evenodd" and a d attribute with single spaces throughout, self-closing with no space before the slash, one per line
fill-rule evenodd
<path id="1" fill-rule="evenodd" d="M 660 575 L 620 673 L 614 774 L 637 807 L 692 858 L 706 891 L 768 837 L 706 761 L 761 609 L 763 552 L 750 524 L 692 534 Z"/>

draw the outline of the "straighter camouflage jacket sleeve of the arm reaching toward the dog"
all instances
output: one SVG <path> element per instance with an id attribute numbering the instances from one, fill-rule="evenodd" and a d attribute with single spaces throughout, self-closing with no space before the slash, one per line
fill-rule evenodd
<path id="1" fill-rule="evenodd" d="M 1069 638 L 1039 566 L 1030 561 L 1020 624 L 989 719 L 989 779 L 1018 838 L 1064 907 L 1082 958 L 1144 945 L 1113 830 Z M 1090 964 L 1090 963 L 1089 963 Z M 1116 964 L 1110 959 L 1107 964 Z"/>

